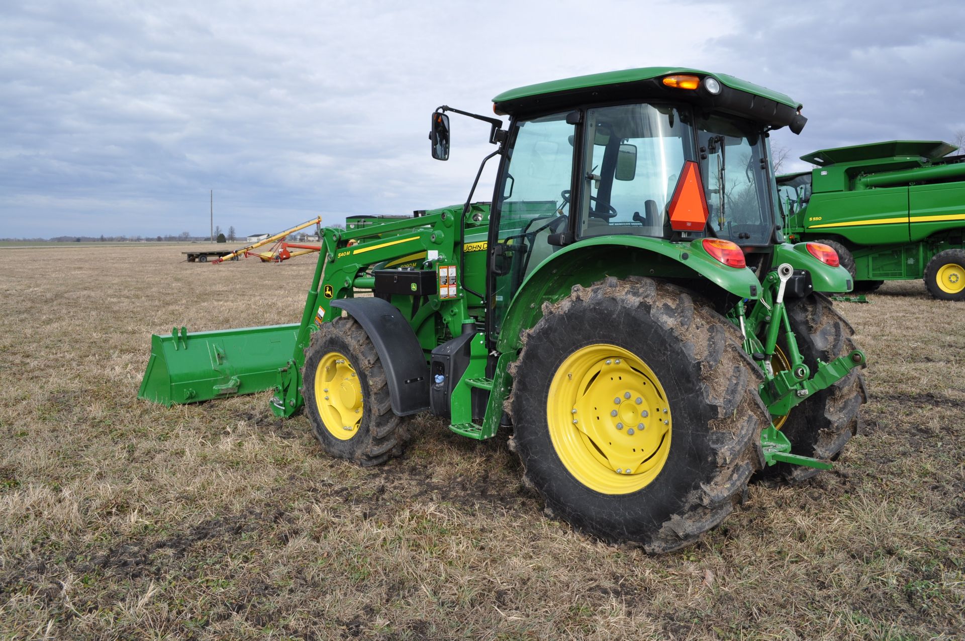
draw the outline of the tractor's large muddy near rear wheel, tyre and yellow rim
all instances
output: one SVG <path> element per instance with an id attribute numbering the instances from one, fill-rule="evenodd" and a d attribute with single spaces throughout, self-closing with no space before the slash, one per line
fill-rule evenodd
<path id="1" fill-rule="evenodd" d="M 551 513 L 649 553 L 731 514 L 761 464 L 760 376 L 730 322 L 648 278 L 546 305 L 510 368 L 525 482 Z"/>

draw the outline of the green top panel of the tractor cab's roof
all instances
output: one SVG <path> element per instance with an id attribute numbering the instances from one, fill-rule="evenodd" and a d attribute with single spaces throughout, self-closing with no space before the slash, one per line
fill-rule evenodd
<path id="1" fill-rule="evenodd" d="M 801 108 L 800 102 L 796 102 L 785 94 L 772 91 L 766 87 L 761 87 L 760 85 L 747 82 L 746 80 L 735 78 L 734 76 L 726 73 L 711 73 L 709 71 L 690 69 L 686 67 L 642 67 L 640 69 L 606 71 L 604 73 L 578 75 L 572 78 L 552 80 L 550 82 L 540 82 L 535 85 L 526 85 L 525 87 L 510 89 L 510 91 L 503 92 L 496 98 L 493 98 L 492 101 L 498 105 L 500 103 L 513 102 L 519 100 L 520 98 L 532 98 L 549 94 L 560 94 L 581 89 L 588 89 L 591 87 L 622 85 L 626 83 L 651 80 L 653 78 L 670 75 L 673 73 L 693 73 L 701 76 L 709 75 L 716 78 L 723 85 L 730 87 L 731 89 L 753 94 L 761 98 L 768 98 L 781 104 L 785 104 L 792 109 Z"/>

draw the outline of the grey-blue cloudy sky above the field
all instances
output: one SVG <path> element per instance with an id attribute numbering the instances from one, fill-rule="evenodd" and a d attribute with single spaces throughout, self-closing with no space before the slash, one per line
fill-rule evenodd
<path id="1" fill-rule="evenodd" d="M 790 157 L 965 131 L 965 3 L 0 2 L 0 237 L 279 231 L 465 198 L 519 85 L 691 66 L 804 103 Z M 794 166 L 806 165 L 797 161 Z M 478 200 L 491 197 L 491 179 Z M 488 190 L 488 192 L 487 192 Z"/>

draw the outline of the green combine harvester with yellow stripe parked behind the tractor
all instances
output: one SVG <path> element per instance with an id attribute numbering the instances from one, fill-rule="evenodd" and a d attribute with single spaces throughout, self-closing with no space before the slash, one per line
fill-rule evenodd
<path id="1" fill-rule="evenodd" d="M 965 300 L 965 155 L 937 140 L 892 140 L 802 155 L 817 168 L 778 177 L 785 232 L 838 253 L 855 290 L 924 279 Z"/>

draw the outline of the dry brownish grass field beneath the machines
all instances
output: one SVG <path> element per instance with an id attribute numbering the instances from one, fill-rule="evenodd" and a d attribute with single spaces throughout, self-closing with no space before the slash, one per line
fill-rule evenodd
<path id="1" fill-rule="evenodd" d="M 297 321 L 314 268 L 181 249 L 0 248 L 0 638 L 965 635 L 965 304 L 839 303 L 870 399 L 837 469 L 648 557 L 543 516 L 505 435 L 425 418 L 362 469 L 264 394 L 137 401 L 152 332 Z"/>

